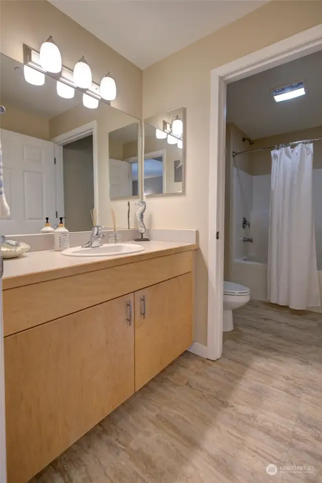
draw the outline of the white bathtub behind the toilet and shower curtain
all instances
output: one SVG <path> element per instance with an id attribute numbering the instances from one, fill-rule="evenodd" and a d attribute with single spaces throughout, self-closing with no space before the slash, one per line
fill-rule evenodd
<path id="1" fill-rule="evenodd" d="M 322 254 L 317 256 L 318 278 L 322 300 Z M 251 291 L 251 299 L 267 301 L 267 257 L 248 255 L 232 262 L 232 282 L 245 285 Z M 322 307 L 310 309 L 322 313 Z"/>

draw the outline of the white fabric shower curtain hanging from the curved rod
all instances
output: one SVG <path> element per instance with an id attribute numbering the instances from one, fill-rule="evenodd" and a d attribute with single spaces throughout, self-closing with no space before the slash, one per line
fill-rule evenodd
<path id="1" fill-rule="evenodd" d="M 313 145 L 272 151 L 268 298 L 292 309 L 321 304 L 312 206 Z"/>

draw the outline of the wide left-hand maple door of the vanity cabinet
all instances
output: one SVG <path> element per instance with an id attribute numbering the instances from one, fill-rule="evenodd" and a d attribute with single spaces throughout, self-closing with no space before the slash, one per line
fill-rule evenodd
<path id="1" fill-rule="evenodd" d="M 8 483 L 28 481 L 133 394 L 133 298 L 5 338 Z"/>

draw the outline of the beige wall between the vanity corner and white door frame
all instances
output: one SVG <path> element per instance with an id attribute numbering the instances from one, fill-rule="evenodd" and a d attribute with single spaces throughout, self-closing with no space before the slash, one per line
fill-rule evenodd
<path id="1" fill-rule="evenodd" d="M 178 106 L 187 108 L 187 194 L 149 198 L 146 213 L 155 228 L 199 230 L 195 340 L 203 344 L 207 342 L 210 71 L 320 23 L 322 2 L 270 2 L 143 72 L 144 118 Z"/>

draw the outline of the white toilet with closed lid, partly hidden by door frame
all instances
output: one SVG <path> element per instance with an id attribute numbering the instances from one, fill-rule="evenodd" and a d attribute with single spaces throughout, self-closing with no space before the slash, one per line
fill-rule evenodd
<path id="1" fill-rule="evenodd" d="M 233 329 L 232 311 L 250 301 L 250 289 L 232 282 L 223 283 L 223 331 Z"/>

